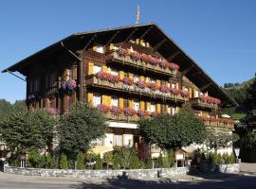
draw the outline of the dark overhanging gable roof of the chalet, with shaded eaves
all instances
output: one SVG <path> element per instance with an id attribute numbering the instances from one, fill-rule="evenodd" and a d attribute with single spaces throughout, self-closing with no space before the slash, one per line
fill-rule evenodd
<path id="1" fill-rule="evenodd" d="M 145 41 L 150 42 L 152 46 L 157 46 L 157 52 L 165 59 L 175 60 L 180 65 L 180 71 L 184 76 L 188 77 L 199 89 L 207 90 L 210 94 L 214 94 L 214 96 L 220 98 L 225 102 L 224 106 L 237 106 L 237 103 L 155 23 L 75 33 L 57 43 L 47 46 L 26 59 L 11 65 L 2 72 L 18 71 L 23 73 L 23 68 L 28 64 L 46 57 L 49 53 L 63 50 L 62 43 L 68 43 L 68 46 L 74 48 L 74 50 L 78 50 L 84 47 L 84 43 L 90 45 L 91 40 L 95 37 L 97 40 L 104 43 L 109 42 L 110 39 L 113 43 L 122 42 L 127 39 L 129 40 L 131 37 L 134 39 L 144 39 Z"/>

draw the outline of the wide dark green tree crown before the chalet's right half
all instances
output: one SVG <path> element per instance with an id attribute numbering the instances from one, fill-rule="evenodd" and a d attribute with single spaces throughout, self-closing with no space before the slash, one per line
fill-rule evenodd
<path id="1" fill-rule="evenodd" d="M 192 143 L 201 144 L 206 138 L 204 123 L 189 107 L 181 108 L 175 115 L 159 115 L 138 122 L 138 132 L 146 143 L 162 149 L 176 149 Z"/>

